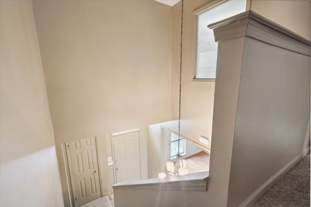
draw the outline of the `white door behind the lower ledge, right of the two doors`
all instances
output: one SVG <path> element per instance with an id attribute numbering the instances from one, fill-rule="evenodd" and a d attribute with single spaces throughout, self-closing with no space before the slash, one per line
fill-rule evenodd
<path id="1" fill-rule="evenodd" d="M 140 180 L 139 132 L 113 136 L 117 183 Z"/>

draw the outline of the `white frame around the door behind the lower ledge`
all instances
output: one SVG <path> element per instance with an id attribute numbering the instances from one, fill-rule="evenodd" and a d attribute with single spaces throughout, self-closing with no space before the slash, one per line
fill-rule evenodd
<path id="1" fill-rule="evenodd" d="M 113 181 L 114 184 L 117 184 L 117 172 L 116 172 L 116 161 L 115 161 L 115 147 L 114 147 L 114 143 L 113 143 L 113 138 L 116 136 L 120 136 L 123 134 L 129 134 L 132 132 L 137 132 L 138 131 L 138 142 L 139 142 L 139 169 L 140 169 L 140 179 L 141 179 L 141 142 L 140 142 L 140 128 L 135 128 L 135 129 L 131 129 L 131 130 L 127 130 L 127 131 L 122 131 L 122 132 L 116 132 L 116 133 L 111 133 L 110 134 L 110 142 L 111 142 L 111 151 L 112 151 L 112 161 L 113 161 Z"/>

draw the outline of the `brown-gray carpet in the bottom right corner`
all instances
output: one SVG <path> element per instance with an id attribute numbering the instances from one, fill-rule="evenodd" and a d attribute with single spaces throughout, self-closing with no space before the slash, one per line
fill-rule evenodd
<path id="1" fill-rule="evenodd" d="M 310 154 L 270 187 L 254 207 L 310 207 Z"/>

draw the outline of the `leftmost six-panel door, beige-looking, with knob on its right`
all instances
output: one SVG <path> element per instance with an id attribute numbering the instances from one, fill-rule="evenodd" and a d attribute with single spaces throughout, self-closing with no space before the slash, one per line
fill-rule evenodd
<path id="1" fill-rule="evenodd" d="M 101 197 L 95 137 L 69 142 L 69 167 L 75 204 L 81 206 Z M 68 146 L 69 145 L 69 146 Z"/>

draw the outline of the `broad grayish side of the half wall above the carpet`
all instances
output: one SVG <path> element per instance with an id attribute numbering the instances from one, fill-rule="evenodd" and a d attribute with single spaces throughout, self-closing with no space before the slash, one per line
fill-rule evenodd
<path id="1" fill-rule="evenodd" d="M 228 206 L 240 205 L 299 159 L 310 137 L 309 118 L 310 56 L 246 37 Z"/>

